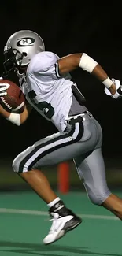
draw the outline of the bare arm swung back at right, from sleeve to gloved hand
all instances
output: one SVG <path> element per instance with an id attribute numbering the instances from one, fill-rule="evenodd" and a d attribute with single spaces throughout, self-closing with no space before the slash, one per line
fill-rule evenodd
<path id="1" fill-rule="evenodd" d="M 97 61 L 94 61 L 94 59 L 87 54 L 69 54 L 59 59 L 57 62 L 60 75 L 63 75 L 66 72 L 71 72 L 74 69 L 81 68 L 91 73 L 100 82 L 102 82 L 106 89 L 109 90 L 109 93 L 113 96 L 113 98 L 119 97 L 119 94 L 117 92 L 118 86 L 116 86 L 116 80 L 111 80 L 105 70 L 102 69 L 102 66 L 99 65 Z"/>

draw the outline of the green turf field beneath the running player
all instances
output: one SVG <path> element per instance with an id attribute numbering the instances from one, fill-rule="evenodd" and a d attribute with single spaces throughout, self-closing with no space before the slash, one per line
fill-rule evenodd
<path id="1" fill-rule="evenodd" d="M 122 197 L 122 194 L 116 193 Z M 0 256 L 120 256 L 120 220 L 94 206 L 83 192 L 61 195 L 83 223 L 50 246 L 43 237 L 50 228 L 47 206 L 31 192 L 0 193 Z"/>

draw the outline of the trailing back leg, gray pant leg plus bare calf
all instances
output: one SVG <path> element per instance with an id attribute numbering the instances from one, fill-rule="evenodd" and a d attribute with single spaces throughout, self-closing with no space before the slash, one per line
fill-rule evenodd
<path id="1" fill-rule="evenodd" d="M 75 163 L 91 202 L 104 206 L 122 220 L 122 200 L 113 195 L 107 187 L 101 149 L 96 149 L 89 155 L 84 154 L 82 158 L 76 158 Z"/>

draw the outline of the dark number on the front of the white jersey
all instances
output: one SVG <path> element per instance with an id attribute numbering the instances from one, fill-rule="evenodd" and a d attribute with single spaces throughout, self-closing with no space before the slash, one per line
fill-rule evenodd
<path id="1" fill-rule="evenodd" d="M 37 95 L 35 94 L 35 91 L 33 91 L 33 90 L 32 90 L 32 91 L 29 91 L 29 92 L 28 92 L 28 96 L 29 96 L 29 98 L 31 99 L 31 102 L 32 102 L 39 110 L 41 110 L 47 118 L 51 119 L 51 118 L 54 116 L 54 108 L 53 108 L 53 106 L 51 106 L 50 103 L 47 103 L 47 102 L 39 102 L 39 103 L 36 103 L 36 102 L 35 102 L 35 97 L 37 96 Z"/>

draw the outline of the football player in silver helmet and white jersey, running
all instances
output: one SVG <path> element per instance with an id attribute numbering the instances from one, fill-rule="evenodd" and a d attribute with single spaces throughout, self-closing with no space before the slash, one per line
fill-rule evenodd
<path id="1" fill-rule="evenodd" d="M 40 171 L 43 166 L 73 159 L 91 202 L 105 207 L 122 220 L 122 200 L 113 195 L 106 184 L 101 150 L 102 128 L 89 113 L 85 98 L 69 72 L 78 68 L 86 70 L 98 78 L 105 93 L 113 98 L 121 97 L 120 81 L 111 80 L 102 66 L 85 53 L 59 58 L 57 54 L 46 51 L 43 39 L 29 30 L 11 35 L 4 55 L 4 76 L 12 70 L 17 72 L 28 105 L 21 114 L 8 113 L 1 106 L 2 116 L 20 125 L 35 108 L 59 131 L 35 142 L 13 161 L 14 172 L 50 207 L 53 224 L 43 243 L 54 243 L 81 222 L 51 190 L 46 176 Z M 6 84 L 0 85 L 0 97 L 6 95 L 6 88 Z"/>

